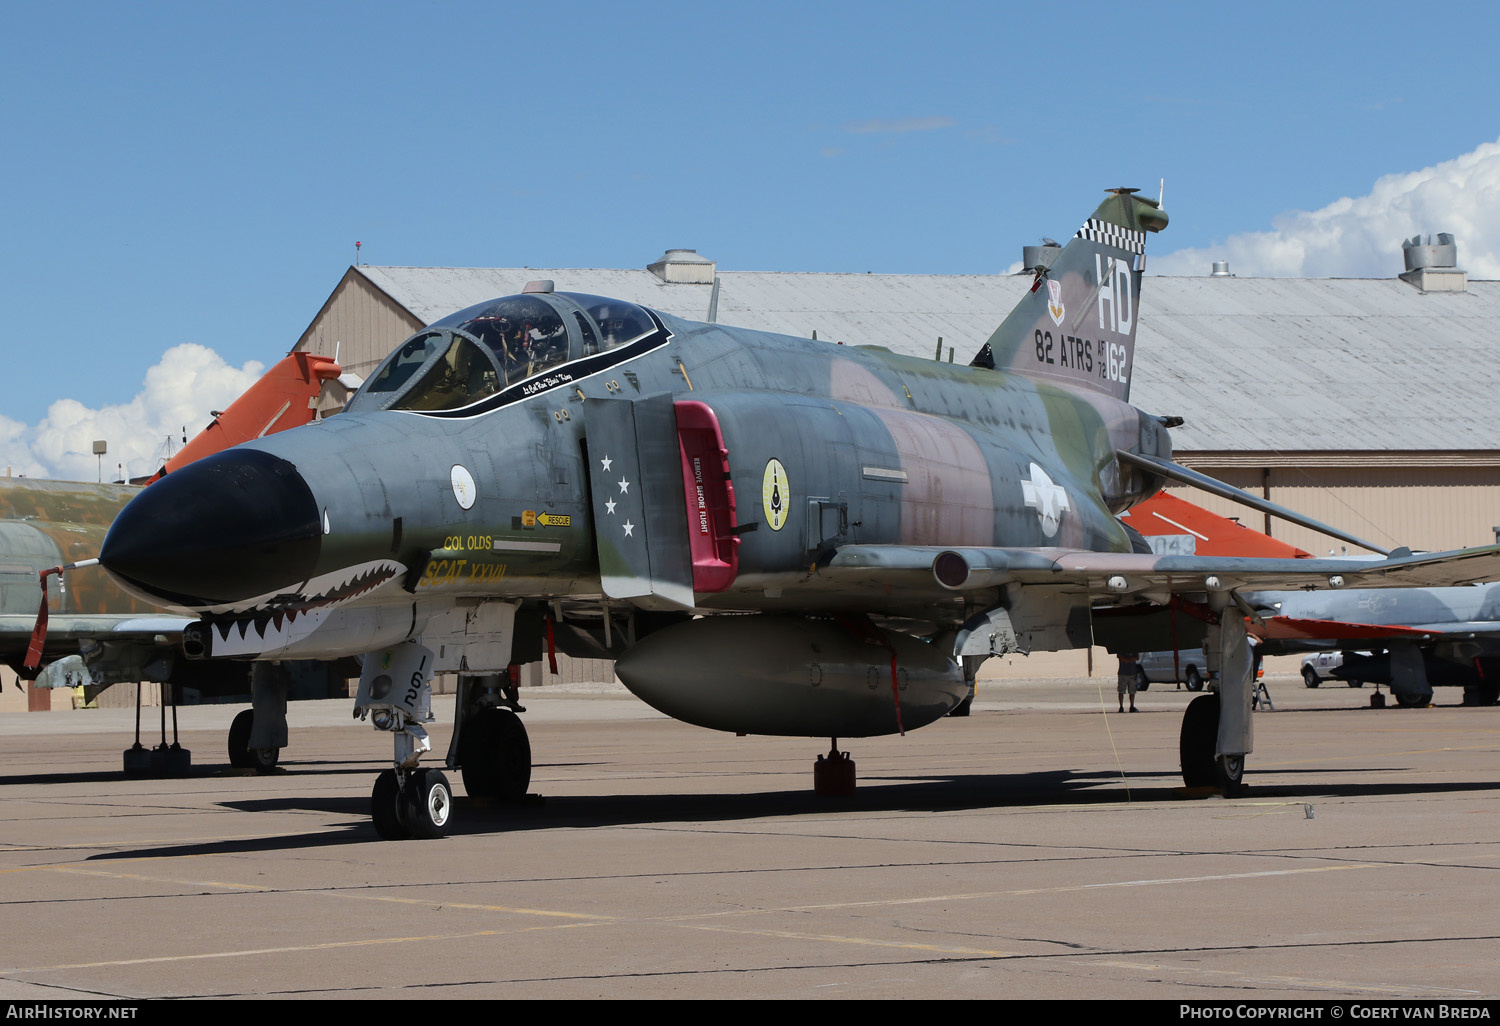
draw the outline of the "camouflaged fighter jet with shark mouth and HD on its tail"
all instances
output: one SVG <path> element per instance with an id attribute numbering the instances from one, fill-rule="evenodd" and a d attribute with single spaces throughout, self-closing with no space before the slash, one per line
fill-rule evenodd
<path id="1" fill-rule="evenodd" d="M 1226 489 L 1172 462 L 1179 418 L 1128 402 L 1166 225 L 1110 190 L 970 366 L 532 282 L 414 334 L 340 416 L 153 484 L 100 560 L 198 616 L 189 656 L 360 654 L 356 712 L 393 735 L 370 800 L 387 838 L 450 822 L 447 777 L 420 765 L 434 672 L 459 675 L 447 766 L 471 796 L 525 792 L 507 669 L 555 650 L 616 657 L 688 723 L 831 738 L 814 780 L 844 788 L 838 738 L 933 723 L 990 656 L 1089 645 L 1101 600 L 1216 624 L 1221 692 L 1190 706 L 1184 777 L 1233 790 L 1242 590 L 1460 584 L 1500 554 L 1150 554 L 1120 512 L 1168 476 Z"/>

